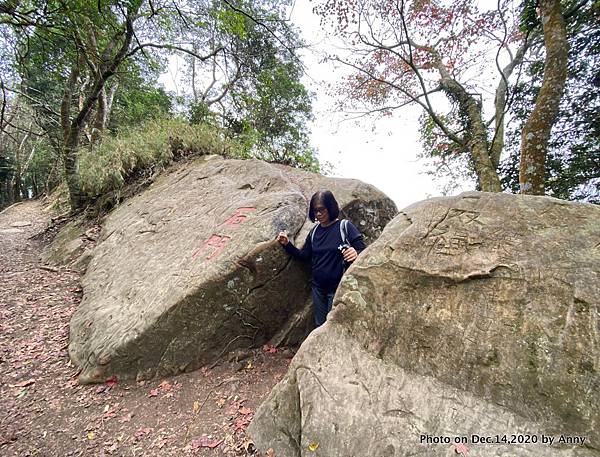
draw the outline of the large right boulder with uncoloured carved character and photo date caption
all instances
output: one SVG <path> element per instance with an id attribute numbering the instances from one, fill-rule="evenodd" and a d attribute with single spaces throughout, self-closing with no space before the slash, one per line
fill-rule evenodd
<path id="1" fill-rule="evenodd" d="M 348 270 L 249 433 L 277 457 L 598 456 L 599 312 L 599 207 L 420 202 Z"/>

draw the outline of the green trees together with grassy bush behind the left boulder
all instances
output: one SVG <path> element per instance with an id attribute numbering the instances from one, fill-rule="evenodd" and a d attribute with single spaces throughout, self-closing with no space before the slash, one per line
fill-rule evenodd
<path id="1" fill-rule="evenodd" d="M 306 130 L 311 97 L 300 83 L 302 65 L 291 51 L 300 40 L 282 20 L 285 3 L 190 0 L 182 8 L 162 0 L 27 0 L 15 3 L 14 11 L 0 12 L 0 31 L 10 38 L 2 41 L 9 46 L 0 55 L 9 54 L 10 59 L 0 66 L 0 77 L 6 82 L 5 75 L 13 71 L 10 84 L 24 93 L 20 103 L 31 108 L 26 124 L 41 127 L 45 135 L 40 140 L 36 131 L 35 140 L 32 136 L 31 144 L 19 152 L 29 157 L 35 142 L 35 154 L 22 176 L 26 193 L 37 195 L 66 173 L 72 176 L 73 161 L 64 159 L 76 148 L 78 182 L 83 197 L 92 198 L 118 192 L 126 182 L 176 160 L 178 151 L 259 157 L 318 169 Z M 137 52 L 115 60 L 127 42 L 127 7 L 133 7 L 130 17 L 135 17 L 129 50 Z M 153 45 L 140 51 L 141 43 Z M 190 107 L 194 126 L 165 120 L 181 105 L 190 106 L 191 94 L 177 100 L 157 85 L 168 57 L 179 52 L 174 47 L 212 55 L 196 59 L 196 77 L 205 87 Z M 112 76 L 98 79 L 109 67 L 106 74 Z M 100 87 L 104 92 L 96 99 Z M 111 109 L 99 116 L 102 95 L 110 102 L 112 94 Z M 61 118 L 62 113 L 68 118 Z M 69 125 L 75 130 L 69 131 Z M 79 207 L 80 192 L 73 183 L 77 181 L 69 181 L 69 191 Z"/>

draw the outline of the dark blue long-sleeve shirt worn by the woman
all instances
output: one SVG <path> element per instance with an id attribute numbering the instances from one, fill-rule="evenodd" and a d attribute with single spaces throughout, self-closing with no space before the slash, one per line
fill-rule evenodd
<path id="1" fill-rule="evenodd" d="M 294 257 L 303 261 L 311 261 L 312 283 L 326 291 L 337 289 L 344 274 L 344 257 L 338 249 L 338 246 L 342 244 L 340 224 L 341 221 L 336 221 L 327 227 L 317 225 L 313 229 L 315 233 L 312 242 L 311 230 L 302 249 L 298 249 L 291 242 L 284 246 L 284 249 Z M 362 235 L 350 221 L 346 228 L 348 243 L 356 249 L 356 252 L 360 253 L 365 249 Z"/>

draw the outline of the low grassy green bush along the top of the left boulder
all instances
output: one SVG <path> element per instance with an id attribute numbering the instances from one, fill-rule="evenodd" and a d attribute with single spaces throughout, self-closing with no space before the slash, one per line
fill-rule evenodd
<path id="1" fill-rule="evenodd" d="M 239 146 L 213 126 L 190 125 L 180 119 L 157 119 L 79 153 L 82 190 L 92 198 L 119 191 L 129 178 L 169 164 L 178 155 L 222 154 L 243 157 Z"/>

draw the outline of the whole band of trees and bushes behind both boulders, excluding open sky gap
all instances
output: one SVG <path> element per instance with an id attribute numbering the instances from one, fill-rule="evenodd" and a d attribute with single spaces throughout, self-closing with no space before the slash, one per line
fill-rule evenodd
<path id="1" fill-rule="evenodd" d="M 420 158 L 444 191 L 600 202 L 600 2 L 311 5 L 333 40 L 333 110 L 357 129 L 418 116 Z M 297 7 L 0 1 L 0 208 L 55 193 L 105 211 L 198 153 L 331 172 L 310 142 L 317 81 Z M 158 82 L 174 56 L 177 93 Z M 358 160 L 376 154 L 365 145 Z"/>

